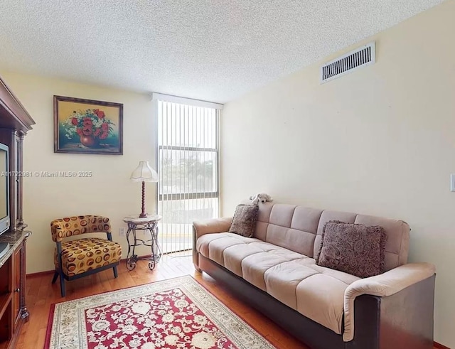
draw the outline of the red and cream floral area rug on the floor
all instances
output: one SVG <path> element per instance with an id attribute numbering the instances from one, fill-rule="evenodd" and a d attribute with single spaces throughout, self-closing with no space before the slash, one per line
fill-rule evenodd
<path id="1" fill-rule="evenodd" d="M 191 276 L 182 276 L 53 304 L 44 348 L 274 346 Z"/>

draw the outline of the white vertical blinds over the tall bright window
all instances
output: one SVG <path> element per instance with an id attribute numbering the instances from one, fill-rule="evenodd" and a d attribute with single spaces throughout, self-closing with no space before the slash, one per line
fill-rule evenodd
<path id="1" fill-rule="evenodd" d="M 218 109 L 157 101 L 159 242 L 192 248 L 193 220 L 218 217 Z"/>

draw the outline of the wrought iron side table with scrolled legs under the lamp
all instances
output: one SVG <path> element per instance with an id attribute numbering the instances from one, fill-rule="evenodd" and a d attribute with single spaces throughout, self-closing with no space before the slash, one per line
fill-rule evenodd
<path id="1" fill-rule="evenodd" d="M 146 218 L 139 218 L 138 215 L 132 215 L 123 218 L 123 221 L 128 225 L 127 241 L 128 241 L 128 254 L 127 254 L 127 269 L 133 270 L 136 268 L 136 262 L 139 259 L 149 261 L 149 269 L 153 270 L 161 258 L 161 247 L 158 243 L 158 222 L 161 220 L 161 215 L 151 215 Z M 149 240 L 142 240 L 137 238 L 137 230 L 149 230 L 151 238 Z M 135 249 L 137 246 L 151 247 L 151 254 L 147 257 L 139 257 Z M 131 256 L 130 256 L 131 254 Z"/>

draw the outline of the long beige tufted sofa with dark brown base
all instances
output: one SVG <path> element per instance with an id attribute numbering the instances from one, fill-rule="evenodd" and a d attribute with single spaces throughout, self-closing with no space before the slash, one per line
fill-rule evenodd
<path id="1" fill-rule="evenodd" d="M 387 272 L 360 279 L 319 267 L 329 220 L 380 225 Z M 252 238 L 232 218 L 193 222 L 193 262 L 313 349 L 432 348 L 435 269 L 407 264 L 410 227 L 356 213 L 259 204 Z"/>

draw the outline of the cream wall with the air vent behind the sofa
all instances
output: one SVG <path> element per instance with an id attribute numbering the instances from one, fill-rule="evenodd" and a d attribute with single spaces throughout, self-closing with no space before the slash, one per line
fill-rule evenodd
<path id="1" fill-rule="evenodd" d="M 375 65 L 324 85 L 312 65 L 225 104 L 221 118 L 223 215 L 265 192 L 406 220 L 410 260 L 437 265 L 435 339 L 452 348 L 454 18 L 451 0 L 366 40 Z"/>

